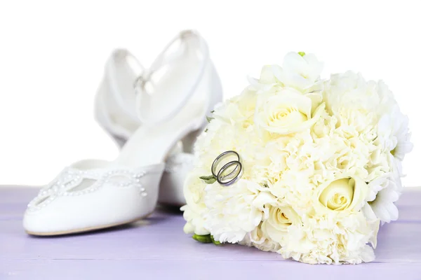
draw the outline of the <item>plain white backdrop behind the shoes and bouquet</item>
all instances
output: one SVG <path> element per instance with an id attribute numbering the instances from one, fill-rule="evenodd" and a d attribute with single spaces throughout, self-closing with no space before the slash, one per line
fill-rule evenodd
<path id="1" fill-rule="evenodd" d="M 118 151 L 93 119 L 113 48 L 149 65 L 181 29 L 210 45 L 225 97 L 289 51 L 331 72 L 383 79 L 410 117 L 406 186 L 421 186 L 421 1 L 0 1 L 0 184 L 48 183 L 83 158 Z"/>

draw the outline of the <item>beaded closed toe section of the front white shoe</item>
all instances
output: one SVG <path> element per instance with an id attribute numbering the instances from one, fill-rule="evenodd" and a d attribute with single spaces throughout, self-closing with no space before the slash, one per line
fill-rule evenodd
<path id="1" fill-rule="evenodd" d="M 29 202 L 23 227 L 30 235 L 66 235 L 138 221 L 154 211 L 163 167 L 76 162 Z"/>

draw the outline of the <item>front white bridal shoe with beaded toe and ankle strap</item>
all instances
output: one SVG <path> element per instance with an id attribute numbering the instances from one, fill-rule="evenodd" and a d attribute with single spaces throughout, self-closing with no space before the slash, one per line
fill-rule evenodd
<path id="1" fill-rule="evenodd" d="M 29 234 L 64 235 L 109 228 L 152 213 L 159 194 L 171 197 L 169 203 L 184 200 L 182 181 L 192 157 L 186 147 L 191 148 L 213 104 L 212 90 L 201 82 L 211 78 L 209 62 L 203 61 L 208 60 L 207 52 L 197 52 L 199 46 L 192 48 L 194 43 L 203 48 L 203 42 L 197 36 L 184 40 L 189 44 L 183 52 L 192 55 L 179 60 L 171 57 L 171 63 L 165 63 L 170 57 L 164 52 L 148 76 L 144 73 L 135 80 L 133 102 L 142 125 L 131 134 L 119 157 L 113 162 L 83 160 L 66 168 L 29 203 L 23 220 Z M 185 74 L 184 67 L 196 76 Z M 202 76 L 206 78 L 199 78 Z M 180 190 L 165 188 L 165 183 Z"/>

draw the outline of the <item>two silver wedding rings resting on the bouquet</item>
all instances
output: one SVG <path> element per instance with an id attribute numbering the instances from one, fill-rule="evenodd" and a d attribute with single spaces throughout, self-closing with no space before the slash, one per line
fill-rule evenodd
<path id="1" fill-rule="evenodd" d="M 227 160 L 230 157 L 234 158 L 234 160 L 227 162 L 218 169 L 218 165 L 220 165 L 223 160 Z M 243 175 L 243 165 L 241 165 L 240 156 L 234 151 L 226 151 L 218 155 L 213 161 L 211 170 L 212 175 L 221 186 L 232 185 Z"/>

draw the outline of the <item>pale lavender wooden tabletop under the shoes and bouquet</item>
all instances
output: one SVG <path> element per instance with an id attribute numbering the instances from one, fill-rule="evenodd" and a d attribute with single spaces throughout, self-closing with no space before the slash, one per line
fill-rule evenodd
<path id="1" fill-rule="evenodd" d="M 177 211 L 114 230 L 29 237 L 22 213 L 33 188 L 0 187 L 0 279 L 421 279 L 421 188 L 399 201 L 399 221 L 378 237 L 363 265 L 305 265 L 236 245 L 199 244 Z"/>

